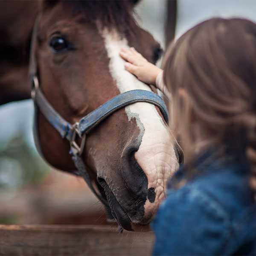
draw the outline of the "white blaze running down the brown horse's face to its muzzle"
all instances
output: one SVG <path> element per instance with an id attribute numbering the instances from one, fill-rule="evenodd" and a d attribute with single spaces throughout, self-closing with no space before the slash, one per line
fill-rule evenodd
<path id="1" fill-rule="evenodd" d="M 102 30 L 102 37 L 105 39 L 108 57 L 110 58 L 109 70 L 120 93 L 137 89 L 151 91 L 148 85 L 139 81 L 124 68 L 125 61 L 119 56 L 119 52 L 122 47 L 128 48 L 127 40 L 125 38 L 121 39 L 117 32 L 109 32 L 106 28 Z M 151 204 L 147 199 L 145 213 L 150 208 L 154 208 L 155 211 L 158 204 L 164 199 L 166 181 L 178 167 L 172 138 L 169 134 L 169 128 L 164 124 L 154 105 L 138 102 L 126 106 L 125 111 L 129 120 L 135 117 L 138 126 L 140 127 L 142 124 L 145 129 L 140 148 L 135 153 L 135 158 L 148 178 L 148 188 L 154 187 L 156 192 L 154 204 Z M 140 129 L 142 130 L 141 127 Z"/>

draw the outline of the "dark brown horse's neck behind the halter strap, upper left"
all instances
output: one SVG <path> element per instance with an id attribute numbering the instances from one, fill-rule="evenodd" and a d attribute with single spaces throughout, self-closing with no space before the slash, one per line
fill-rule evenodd
<path id="1" fill-rule="evenodd" d="M 0 105 L 29 99 L 29 46 L 39 1 L 0 1 Z"/>

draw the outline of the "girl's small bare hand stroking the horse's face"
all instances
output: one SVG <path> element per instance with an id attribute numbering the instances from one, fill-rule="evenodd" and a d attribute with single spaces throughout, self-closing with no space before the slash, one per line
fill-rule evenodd
<path id="1" fill-rule="evenodd" d="M 157 75 L 163 70 L 148 62 L 134 47 L 130 49 L 122 48 L 119 55 L 125 61 L 128 61 L 125 63 L 127 71 L 137 76 L 140 81 L 146 84 L 156 85 Z"/>

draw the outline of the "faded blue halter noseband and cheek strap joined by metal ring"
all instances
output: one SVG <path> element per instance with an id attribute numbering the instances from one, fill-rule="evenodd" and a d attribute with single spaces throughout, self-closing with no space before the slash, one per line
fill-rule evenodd
<path id="1" fill-rule="evenodd" d="M 36 76 L 33 78 L 33 83 L 34 89 L 32 92 L 32 98 L 34 99 L 35 104 L 38 106 L 45 118 L 61 134 L 61 137 L 70 141 L 71 152 L 73 154 L 81 155 L 85 143 L 85 134 L 88 134 L 91 129 L 111 115 L 111 113 L 127 105 L 136 102 L 148 102 L 156 105 L 163 114 L 166 122 L 168 122 L 167 108 L 163 99 L 159 95 L 147 90 L 131 90 L 117 95 L 104 105 L 87 114 L 87 116 L 84 116 L 79 122 L 71 125 L 48 102 L 39 87 Z M 76 143 L 77 136 L 82 138 L 80 146 Z"/>

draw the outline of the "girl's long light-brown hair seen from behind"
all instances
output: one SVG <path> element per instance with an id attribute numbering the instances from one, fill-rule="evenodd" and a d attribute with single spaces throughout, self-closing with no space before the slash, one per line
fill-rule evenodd
<path id="1" fill-rule="evenodd" d="M 186 159 L 195 150 L 194 117 L 202 138 L 253 163 L 256 190 L 256 24 L 214 18 L 193 27 L 169 47 L 164 81 Z"/>

